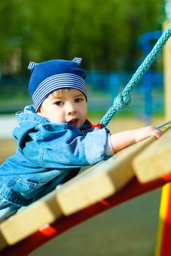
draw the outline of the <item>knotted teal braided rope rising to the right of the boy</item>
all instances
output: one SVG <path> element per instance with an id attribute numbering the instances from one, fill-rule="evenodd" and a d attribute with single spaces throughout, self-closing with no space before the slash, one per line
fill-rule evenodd
<path id="1" fill-rule="evenodd" d="M 148 56 L 142 62 L 140 67 L 134 73 L 131 80 L 129 80 L 129 83 L 127 83 L 126 87 L 123 89 L 122 93 L 118 94 L 118 97 L 114 99 L 113 106 L 107 111 L 107 113 L 100 121 L 100 124 L 102 124 L 103 127 L 107 126 L 107 124 L 110 122 L 111 118 L 113 118 L 115 113 L 125 108 L 126 105 L 130 104 L 130 93 L 132 92 L 132 89 L 134 89 L 134 87 L 137 86 L 137 83 L 140 82 L 142 75 L 144 75 L 145 72 L 151 67 L 151 64 L 153 64 L 153 61 L 156 59 L 156 56 L 161 51 L 161 48 L 167 42 L 167 39 L 169 39 L 170 35 L 171 25 L 161 35 L 159 40 L 156 42 L 156 45 L 154 45 L 153 49 L 151 50 L 151 53 L 148 54 Z"/>

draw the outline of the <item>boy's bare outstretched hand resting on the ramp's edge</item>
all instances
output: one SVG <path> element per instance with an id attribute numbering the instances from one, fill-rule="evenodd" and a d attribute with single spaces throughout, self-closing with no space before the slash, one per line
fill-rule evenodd
<path id="1" fill-rule="evenodd" d="M 151 136 L 158 139 L 162 134 L 163 132 L 160 129 L 156 129 L 153 126 L 142 127 L 140 129 L 134 129 L 134 140 L 135 142 L 139 142 Z"/>

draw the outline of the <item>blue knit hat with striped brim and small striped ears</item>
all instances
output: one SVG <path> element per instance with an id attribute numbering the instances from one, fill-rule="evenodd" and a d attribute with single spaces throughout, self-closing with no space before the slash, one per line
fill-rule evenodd
<path id="1" fill-rule="evenodd" d="M 81 58 L 75 58 L 72 61 L 54 59 L 39 64 L 30 62 L 28 89 L 36 110 L 50 93 L 58 89 L 77 89 L 86 96 L 86 72 L 80 69 L 81 61 Z"/>

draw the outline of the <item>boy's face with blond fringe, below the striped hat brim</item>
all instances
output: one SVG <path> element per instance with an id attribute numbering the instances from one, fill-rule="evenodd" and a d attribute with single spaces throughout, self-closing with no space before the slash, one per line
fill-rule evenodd
<path id="1" fill-rule="evenodd" d="M 47 97 L 37 113 L 52 122 L 69 123 L 80 128 L 87 118 L 86 97 L 81 91 L 70 89 L 56 97 Z"/>

